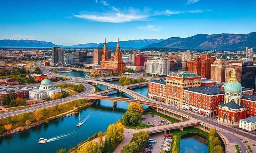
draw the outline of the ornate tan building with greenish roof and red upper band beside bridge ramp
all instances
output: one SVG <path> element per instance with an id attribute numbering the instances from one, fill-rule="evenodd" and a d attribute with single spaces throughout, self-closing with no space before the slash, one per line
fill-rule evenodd
<path id="1" fill-rule="evenodd" d="M 201 86 L 201 77 L 185 71 L 171 72 L 166 77 L 166 104 L 181 107 L 182 90 L 184 88 Z"/>

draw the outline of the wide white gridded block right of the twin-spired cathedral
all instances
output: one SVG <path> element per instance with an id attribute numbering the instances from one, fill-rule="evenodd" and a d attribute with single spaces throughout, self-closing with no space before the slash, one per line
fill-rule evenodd
<path id="1" fill-rule="evenodd" d="M 171 61 L 167 59 L 148 59 L 147 73 L 165 76 L 170 73 Z"/>

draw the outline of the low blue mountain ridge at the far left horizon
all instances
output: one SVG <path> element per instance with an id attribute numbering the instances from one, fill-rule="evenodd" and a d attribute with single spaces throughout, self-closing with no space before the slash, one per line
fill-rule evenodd
<path id="1" fill-rule="evenodd" d="M 57 46 L 51 42 L 38 40 L 0 40 L 0 47 L 52 47 Z"/>

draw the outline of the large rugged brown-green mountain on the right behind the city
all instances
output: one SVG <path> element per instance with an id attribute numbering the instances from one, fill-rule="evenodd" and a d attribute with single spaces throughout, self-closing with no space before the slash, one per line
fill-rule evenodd
<path id="1" fill-rule="evenodd" d="M 197 34 L 188 38 L 171 37 L 143 48 L 183 48 L 206 50 L 244 50 L 256 47 L 256 32 L 249 34 Z"/>

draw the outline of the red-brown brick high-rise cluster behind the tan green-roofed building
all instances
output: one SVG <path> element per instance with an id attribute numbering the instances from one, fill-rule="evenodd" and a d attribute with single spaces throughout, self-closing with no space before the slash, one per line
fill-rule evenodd
<path id="1" fill-rule="evenodd" d="M 196 73 L 203 78 L 211 78 L 211 64 L 215 61 L 210 55 L 199 55 L 188 62 L 188 72 Z"/>

